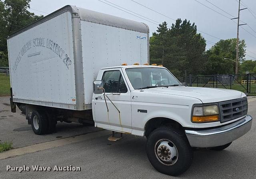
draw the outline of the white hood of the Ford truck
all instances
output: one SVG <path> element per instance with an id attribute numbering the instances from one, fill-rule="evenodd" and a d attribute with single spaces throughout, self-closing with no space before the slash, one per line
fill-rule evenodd
<path id="1" fill-rule="evenodd" d="M 179 96 L 187 96 L 197 98 L 203 103 L 220 102 L 245 97 L 243 92 L 230 89 L 216 89 L 207 87 L 158 87 L 152 89 L 144 89 L 145 92 L 172 94 Z"/>

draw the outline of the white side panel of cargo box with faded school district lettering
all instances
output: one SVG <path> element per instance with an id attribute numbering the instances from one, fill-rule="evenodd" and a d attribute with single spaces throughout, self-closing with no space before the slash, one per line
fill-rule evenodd
<path id="1" fill-rule="evenodd" d="M 70 12 L 11 37 L 8 53 L 14 101 L 75 108 Z"/>

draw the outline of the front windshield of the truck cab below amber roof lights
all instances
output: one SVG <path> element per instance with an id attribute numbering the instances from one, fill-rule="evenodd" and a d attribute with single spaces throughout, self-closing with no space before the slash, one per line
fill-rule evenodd
<path id="1" fill-rule="evenodd" d="M 180 82 L 164 68 L 128 68 L 126 69 L 126 74 L 134 89 L 181 85 Z"/>

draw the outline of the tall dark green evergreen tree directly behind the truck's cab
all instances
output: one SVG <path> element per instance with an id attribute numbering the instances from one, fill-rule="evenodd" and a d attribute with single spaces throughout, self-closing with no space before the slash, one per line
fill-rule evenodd
<path id="1" fill-rule="evenodd" d="M 166 22 L 159 25 L 150 38 L 150 61 L 163 64 L 176 76 L 202 72 L 206 43 L 196 33 L 196 25 L 177 19 L 169 29 Z"/>

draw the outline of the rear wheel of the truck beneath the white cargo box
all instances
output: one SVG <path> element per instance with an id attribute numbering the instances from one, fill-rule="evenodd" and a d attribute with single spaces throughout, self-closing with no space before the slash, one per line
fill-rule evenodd
<path id="1" fill-rule="evenodd" d="M 37 118 L 37 119 L 36 119 Z M 34 122 L 37 121 L 38 122 Z M 38 124 L 38 125 L 37 125 Z M 44 111 L 32 111 L 31 125 L 35 134 L 42 135 L 46 134 L 48 130 L 48 120 Z"/>

